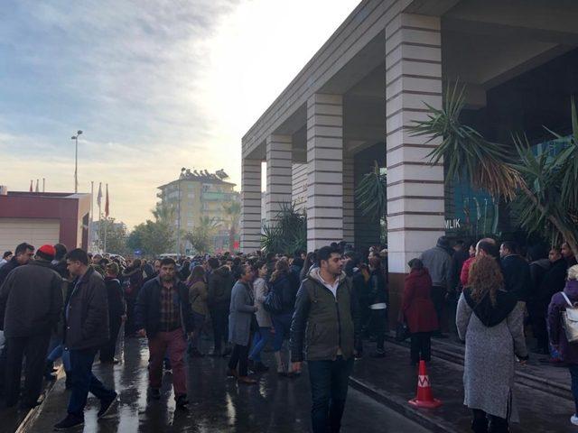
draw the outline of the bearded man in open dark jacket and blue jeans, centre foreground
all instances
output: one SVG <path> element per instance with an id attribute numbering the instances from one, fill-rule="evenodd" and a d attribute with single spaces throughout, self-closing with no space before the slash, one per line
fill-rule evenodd
<path id="1" fill-rule="evenodd" d="M 309 272 L 297 292 L 291 356 L 293 370 L 301 371 L 307 347 L 313 433 L 337 433 L 359 338 L 359 307 L 340 250 L 324 246 L 317 260 L 319 268 Z"/>

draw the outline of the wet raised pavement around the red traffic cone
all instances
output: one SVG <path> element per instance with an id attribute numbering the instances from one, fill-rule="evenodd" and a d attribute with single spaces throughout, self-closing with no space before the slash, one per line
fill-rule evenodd
<path id="1" fill-rule="evenodd" d="M 371 345 L 367 349 L 370 350 Z M 471 411 L 463 406 L 463 366 L 434 357 L 427 367 L 427 373 L 432 382 L 433 396 L 443 401 L 443 406 L 435 410 L 418 410 L 407 404 L 409 399 L 415 397 L 417 383 L 417 368 L 409 364 L 409 349 L 387 343 L 386 352 L 386 358 L 364 357 L 356 362 L 353 378 L 359 388 L 375 394 L 379 401 L 385 401 L 406 416 L 435 426 L 432 428 L 452 432 L 471 431 Z M 568 374 L 567 370 L 565 373 Z M 519 383 L 514 388 L 514 397 L 521 421 L 511 424 L 512 433 L 578 431 L 570 424 L 573 400 Z"/>

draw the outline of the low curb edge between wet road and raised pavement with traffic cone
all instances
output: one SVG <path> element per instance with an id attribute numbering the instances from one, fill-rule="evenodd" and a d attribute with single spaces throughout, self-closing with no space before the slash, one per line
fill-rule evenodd
<path id="1" fill-rule="evenodd" d="M 429 417 L 428 415 L 432 413 L 431 410 L 414 409 L 402 397 L 381 392 L 376 387 L 368 384 L 367 382 L 360 381 L 359 379 L 351 376 L 350 386 L 359 392 L 364 393 L 371 399 L 386 405 L 392 410 L 395 410 L 403 417 L 406 417 L 406 419 L 411 419 L 420 426 L 427 428 L 428 430 L 431 430 L 435 433 L 460 433 L 460 430 L 456 430 L 451 424 L 440 419 L 432 419 Z"/>

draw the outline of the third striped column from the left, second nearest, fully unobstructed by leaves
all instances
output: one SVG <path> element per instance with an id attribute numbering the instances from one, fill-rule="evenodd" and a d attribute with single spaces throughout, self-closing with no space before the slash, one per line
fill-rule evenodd
<path id="1" fill-rule="evenodd" d="M 343 98 L 307 101 L 307 249 L 343 239 Z"/>

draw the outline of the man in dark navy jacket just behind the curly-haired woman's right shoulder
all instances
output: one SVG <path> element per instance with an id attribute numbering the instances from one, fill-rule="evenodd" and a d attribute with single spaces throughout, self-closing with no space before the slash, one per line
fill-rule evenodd
<path id="1" fill-rule="evenodd" d="M 515 293 L 518 300 L 527 302 L 532 291 L 530 266 L 517 253 L 517 244 L 512 241 L 503 242 L 499 247 L 499 256 L 506 290 Z"/>

